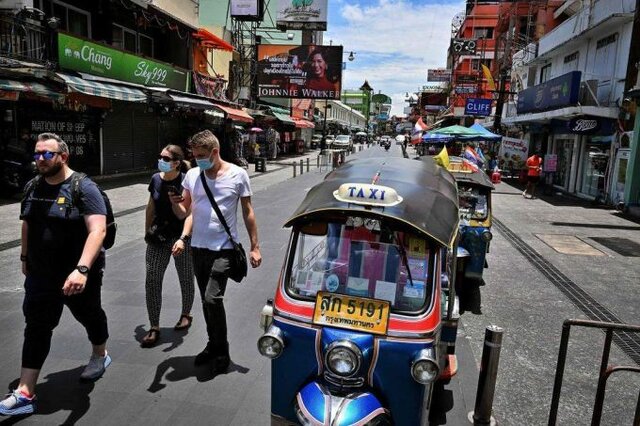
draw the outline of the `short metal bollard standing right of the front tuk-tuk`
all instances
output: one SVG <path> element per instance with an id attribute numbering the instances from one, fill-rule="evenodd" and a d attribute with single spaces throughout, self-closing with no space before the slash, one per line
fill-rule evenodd
<path id="1" fill-rule="evenodd" d="M 495 420 L 491 417 L 491 410 L 493 408 L 493 395 L 496 390 L 496 377 L 498 375 L 503 333 L 504 329 L 496 325 L 488 326 L 484 332 L 484 348 L 482 349 L 482 361 L 478 376 L 478 391 L 476 393 L 476 405 L 473 410 L 474 425 L 495 424 Z"/>

